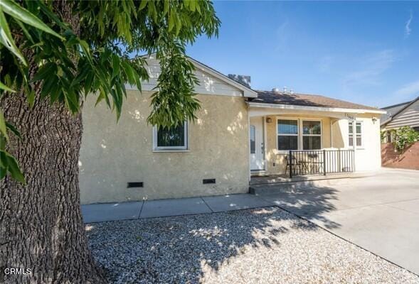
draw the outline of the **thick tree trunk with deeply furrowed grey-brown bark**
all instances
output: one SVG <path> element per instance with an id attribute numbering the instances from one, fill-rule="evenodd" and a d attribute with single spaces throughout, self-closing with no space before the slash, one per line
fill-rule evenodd
<path id="1" fill-rule="evenodd" d="M 55 11 L 80 31 L 71 2 L 54 2 Z M 26 53 L 31 62 L 30 51 Z M 31 73 L 36 66 L 31 66 Z M 39 99 L 29 108 L 22 92 L 2 97 L 6 121 L 21 132 L 10 134 L 27 185 L 6 177 L 0 182 L 0 283 L 105 283 L 87 246 L 80 212 L 78 158 L 81 114 Z M 20 268 L 20 273 L 6 274 Z"/>

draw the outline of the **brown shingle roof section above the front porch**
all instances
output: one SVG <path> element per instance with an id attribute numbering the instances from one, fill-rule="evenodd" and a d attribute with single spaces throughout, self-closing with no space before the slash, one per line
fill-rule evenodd
<path id="1" fill-rule="evenodd" d="M 376 107 L 368 107 L 362 104 L 342 101 L 341 99 L 332 99 L 330 97 L 320 96 L 318 94 L 297 94 L 271 91 L 256 91 L 258 97 L 250 99 L 250 102 L 266 104 L 290 104 L 305 107 L 336 107 L 341 109 L 369 109 L 380 110 Z"/>

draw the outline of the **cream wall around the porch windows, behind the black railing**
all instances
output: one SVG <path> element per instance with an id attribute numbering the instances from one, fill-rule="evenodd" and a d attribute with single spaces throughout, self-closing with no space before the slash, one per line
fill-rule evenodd
<path id="1" fill-rule="evenodd" d="M 266 116 L 272 119 L 271 123 L 266 123 L 266 170 L 267 174 L 285 173 L 286 153 L 277 151 L 277 123 L 276 119 L 319 119 L 322 121 L 322 148 L 349 148 L 348 142 L 348 120 L 336 119 L 328 116 L 314 116 L 307 114 L 281 114 L 280 116 Z M 357 121 L 363 122 L 363 147 L 356 148 L 355 169 L 377 170 L 381 166 L 380 153 L 380 122 L 373 122 L 372 114 L 358 114 Z M 332 132 L 331 132 L 332 122 Z M 332 139 L 331 139 L 332 138 Z M 331 143 L 332 142 L 332 143 Z"/>

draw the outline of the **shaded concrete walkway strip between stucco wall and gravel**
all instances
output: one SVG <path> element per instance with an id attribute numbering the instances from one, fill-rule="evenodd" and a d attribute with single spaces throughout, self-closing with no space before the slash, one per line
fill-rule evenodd
<path id="1" fill-rule="evenodd" d="M 250 194 L 82 205 L 85 223 L 226 212 L 275 205 Z"/>

